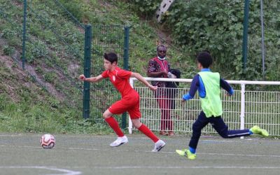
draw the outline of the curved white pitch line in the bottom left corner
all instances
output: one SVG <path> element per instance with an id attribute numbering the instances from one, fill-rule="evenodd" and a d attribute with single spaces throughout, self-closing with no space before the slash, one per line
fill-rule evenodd
<path id="1" fill-rule="evenodd" d="M 55 167 L 41 167 L 41 166 L 0 166 L 0 169 L 47 169 L 57 172 L 62 172 L 63 174 L 46 174 L 46 175 L 78 175 L 81 172 L 74 172 L 69 169 L 59 169 Z"/>

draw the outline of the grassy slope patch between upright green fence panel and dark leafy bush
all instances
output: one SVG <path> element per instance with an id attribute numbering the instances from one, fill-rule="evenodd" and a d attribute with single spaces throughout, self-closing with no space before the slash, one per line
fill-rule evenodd
<path id="1" fill-rule="evenodd" d="M 191 78 L 195 71 L 193 59 L 190 55 L 184 54 L 179 45 L 172 45 L 172 39 L 165 34 L 161 25 L 155 19 L 145 20 L 131 11 L 129 5 L 123 1 L 79 1 L 80 21 L 86 21 L 93 25 L 126 25 L 130 26 L 130 70 L 138 71 L 146 75 L 148 60 L 155 57 L 155 48 L 158 41 L 162 41 L 169 47 L 169 62 L 174 68 L 184 69 L 183 78 Z M 91 6 L 87 6 L 89 4 Z M 69 5 L 70 6 L 70 5 Z M 73 5 L 74 6 L 74 5 Z M 69 9 L 73 10 L 73 6 Z M 168 42 L 168 43 L 167 43 Z M 184 61 L 183 61 L 184 60 Z M 192 65 L 190 65 L 192 64 Z M 188 74 L 187 74 L 188 72 Z"/>

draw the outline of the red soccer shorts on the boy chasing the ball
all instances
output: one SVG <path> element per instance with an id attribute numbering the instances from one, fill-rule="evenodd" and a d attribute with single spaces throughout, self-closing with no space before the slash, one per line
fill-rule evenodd
<path id="1" fill-rule="evenodd" d="M 140 98 L 138 93 L 132 93 L 120 99 L 118 102 L 109 107 L 109 111 L 113 114 L 128 112 L 131 119 L 141 118 Z"/>

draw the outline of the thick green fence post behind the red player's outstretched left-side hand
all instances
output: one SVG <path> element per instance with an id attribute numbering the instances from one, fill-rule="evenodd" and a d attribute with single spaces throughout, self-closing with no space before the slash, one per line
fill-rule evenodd
<path id="1" fill-rule="evenodd" d="M 92 26 L 85 25 L 85 55 L 84 55 L 84 74 L 90 77 L 92 50 Z M 90 118 L 90 83 L 84 82 L 83 85 L 83 118 Z"/>

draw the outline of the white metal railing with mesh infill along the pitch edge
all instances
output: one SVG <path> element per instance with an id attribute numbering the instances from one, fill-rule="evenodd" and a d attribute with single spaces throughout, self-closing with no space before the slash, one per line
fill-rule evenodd
<path id="1" fill-rule="evenodd" d="M 196 93 L 195 98 L 181 103 L 183 94 L 189 88 L 185 88 L 182 83 L 190 83 L 192 79 L 184 78 L 145 78 L 146 80 L 174 81 L 180 82 L 181 87 L 176 88 L 177 94 L 174 97 L 175 109 L 171 110 L 172 121 L 175 132 L 191 132 L 193 122 L 201 111 L 200 99 Z M 141 83 L 135 83 L 136 78 L 130 78 L 130 85 L 139 92 L 142 113 L 141 121 L 148 125 L 151 130 L 160 130 L 160 108 L 156 102 L 154 92 L 143 87 Z M 247 80 L 227 80 L 230 84 L 240 85 L 241 90 L 235 90 L 231 97 L 225 96 L 222 90 L 221 99 L 223 102 L 223 119 L 230 130 L 243 130 L 244 128 L 259 125 L 268 130 L 270 135 L 280 136 L 280 92 L 277 91 L 246 91 L 246 85 L 280 85 L 279 81 L 247 81 Z M 188 85 L 190 86 L 190 85 Z M 132 121 L 129 119 L 128 126 L 132 134 Z M 204 133 L 215 133 L 208 125 L 202 131 Z"/>

